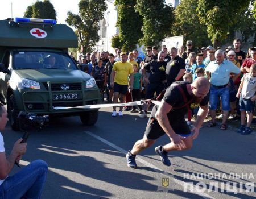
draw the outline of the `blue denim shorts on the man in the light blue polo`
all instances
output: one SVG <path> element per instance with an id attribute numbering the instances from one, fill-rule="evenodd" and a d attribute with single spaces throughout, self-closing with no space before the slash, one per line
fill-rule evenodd
<path id="1" fill-rule="evenodd" d="M 225 88 L 216 88 L 214 86 L 210 86 L 210 110 L 216 110 L 218 105 L 218 100 L 221 98 L 221 108 L 224 111 L 230 110 L 229 103 L 229 87 Z"/>

